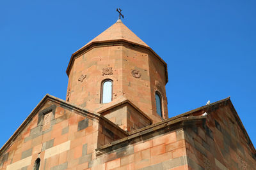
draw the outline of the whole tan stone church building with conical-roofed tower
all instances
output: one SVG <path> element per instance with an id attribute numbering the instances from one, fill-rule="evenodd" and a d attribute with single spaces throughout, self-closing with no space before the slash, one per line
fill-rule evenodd
<path id="1" fill-rule="evenodd" d="M 1 170 L 256 169 L 230 97 L 168 118 L 167 64 L 118 19 L 72 54 L 0 150 Z"/>

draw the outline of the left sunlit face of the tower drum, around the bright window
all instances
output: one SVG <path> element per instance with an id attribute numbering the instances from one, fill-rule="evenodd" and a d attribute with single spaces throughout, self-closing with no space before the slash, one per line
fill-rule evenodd
<path id="1" fill-rule="evenodd" d="M 100 87 L 105 79 L 113 80 L 113 100 L 122 96 L 122 46 L 92 48 L 74 60 L 68 80 L 70 103 L 95 111 L 100 108 Z M 102 75 L 104 68 L 113 73 Z M 83 81 L 79 81 L 86 75 Z"/>

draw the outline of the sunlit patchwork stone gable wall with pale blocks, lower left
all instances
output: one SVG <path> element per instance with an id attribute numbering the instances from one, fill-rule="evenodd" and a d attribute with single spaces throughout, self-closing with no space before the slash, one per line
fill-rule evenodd
<path id="1" fill-rule="evenodd" d="M 52 118 L 49 128 L 44 129 L 45 118 L 38 122 L 38 113 L 45 110 L 48 113 L 49 108 L 52 108 Z M 99 143 L 98 134 L 106 136 L 106 129 L 110 129 L 106 122 L 103 121 L 102 131 L 103 123 L 99 126 L 99 120 L 86 118 L 58 103 L 48 101 L 38 113 L 1 155 L 0 169 L 33 169 L 38 157 L 41 159 L 40 169 L 84 169 L 95 159 L 98 145 L 124 137 L 118 137 L 118 132 L 112 127 L 115 136 L 106 143 Z"/>

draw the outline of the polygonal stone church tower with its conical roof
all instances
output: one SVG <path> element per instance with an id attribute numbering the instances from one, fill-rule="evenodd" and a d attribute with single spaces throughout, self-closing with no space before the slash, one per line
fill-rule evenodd
<path id="1" fill-rule="evenodd" d="M 168 118 L 167 64 L 121 20 L 77 50 L 70 59 L 67 74 L 70 103 L 101 113 L 113 107 L 113 103 L 129 101 L 131 107 L 145 114 L 146 122 L 147 118 L 154 123 Z M 113 94 L 111 103 L 103 104 L 101 88 L 106 80 L 111 80 Z M 161 97 L 161 115 L 156 111 L 156 93 Z M 120 110 L 127 117 L 123 109 L 115 111 Z M 120 120 L 119 114 L 119 118 L 116 113 L 105 114 Z"/>

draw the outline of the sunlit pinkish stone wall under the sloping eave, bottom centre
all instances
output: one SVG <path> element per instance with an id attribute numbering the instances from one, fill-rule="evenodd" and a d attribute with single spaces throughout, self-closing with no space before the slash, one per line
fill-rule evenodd
<path id="1" fill-rule="evenodd" d="M 99 155 L 88 169 L 188 169 L 181 129 L 162 135 L 156 131 L 141 138 L 114 146 L 115 150 Z"/>

